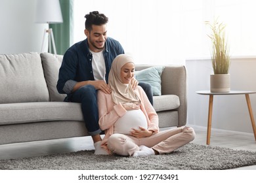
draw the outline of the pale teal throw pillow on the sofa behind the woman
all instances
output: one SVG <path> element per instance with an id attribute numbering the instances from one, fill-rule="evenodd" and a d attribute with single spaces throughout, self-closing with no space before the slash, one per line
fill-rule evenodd
<path id="1" fill-rule="evenodd" d="M 161 73 L 163 72 L 164 66 L 160 67 L 149 67 L 141 71 L 135 71 L 135 78 L 139 82 L 147 82 L 152 86 L 153 95 L 161 95 Z"/>

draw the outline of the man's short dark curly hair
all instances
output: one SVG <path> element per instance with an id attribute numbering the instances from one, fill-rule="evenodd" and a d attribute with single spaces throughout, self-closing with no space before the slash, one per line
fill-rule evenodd
<path id="1" fill-rule="evenodd" d="M 90 12 L 85 14 L 85 29 L 91 31 L 93 28 L 92 25 L 103 25 L 108 23 L 108 17 L 104 14 L 99 13 L 98 11 Z"/>

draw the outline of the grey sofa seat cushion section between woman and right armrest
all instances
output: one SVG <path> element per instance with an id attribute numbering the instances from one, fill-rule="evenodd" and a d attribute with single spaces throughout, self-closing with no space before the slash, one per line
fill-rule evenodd
<path id="1" fill-rule="evenodd" d="M 153 99 L 156 112 L 173 110 L 180 107 L 180 100 L 177 95 L 154 96 Z"/>

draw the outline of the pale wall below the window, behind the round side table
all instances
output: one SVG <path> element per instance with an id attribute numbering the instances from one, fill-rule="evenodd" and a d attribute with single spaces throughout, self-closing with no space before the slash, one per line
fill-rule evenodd
<path id="1" fill-rule="evenodd" d="M 236 58 L 231 61 L 231 90 L 256 91 L 256 57 Z M 211 60 L 186 60 L 186 67 L 188 70 L 188 124 L 207 127 L 209 96 L 199 95 L 196 91 L 210 89 L 210 74 L 213 74 Z M 256 120 L 256 94 L 249 96 Z M 245 95 L 215 95 L 212 127 L 253 133 Z"/>

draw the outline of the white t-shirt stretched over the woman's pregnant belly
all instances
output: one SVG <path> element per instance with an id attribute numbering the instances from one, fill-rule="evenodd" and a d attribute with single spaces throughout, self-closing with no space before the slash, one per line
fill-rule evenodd
<path id="1" fill-rule="evenodd" d="M 129 134 L 132 128 L 139 129 L 139 126 L 148 128 L 145 114 L 140 109 L 127 110 L 114 124 L 114 133 Z"/>

